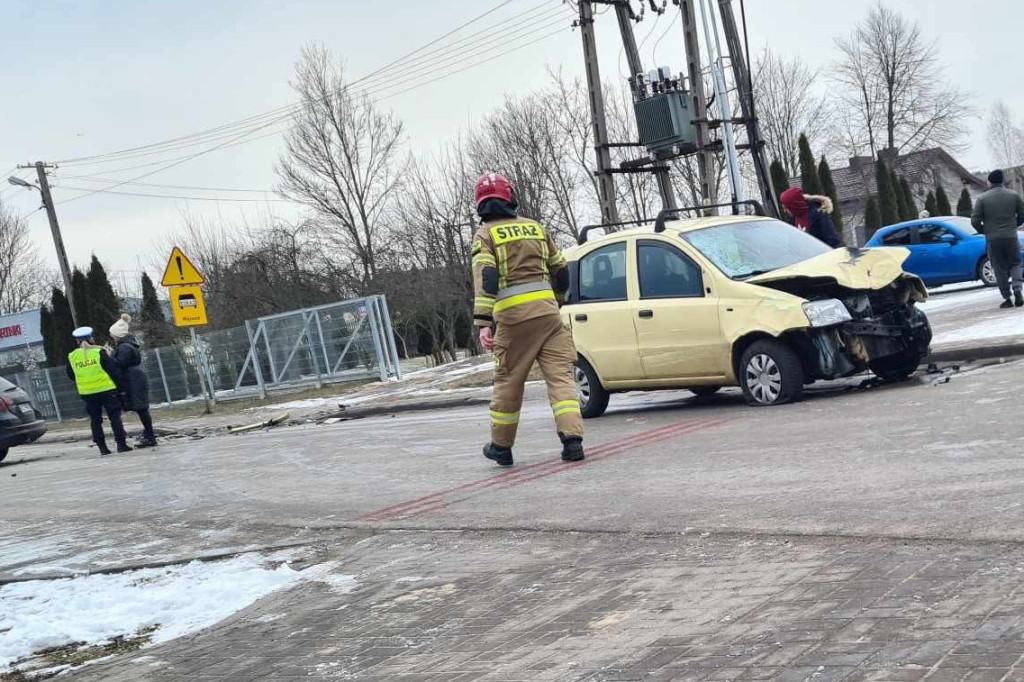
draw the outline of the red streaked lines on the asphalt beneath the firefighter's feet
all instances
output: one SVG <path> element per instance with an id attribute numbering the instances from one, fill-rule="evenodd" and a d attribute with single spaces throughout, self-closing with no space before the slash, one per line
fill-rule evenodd
<path id="1" fill-rule="evenodd" d="M 717 420 L 702 420 L 702 421 L 687 421 L 680 422 L 676 424 L 670 424 L 668 426 L 663 426 L 651 431 L 637 433 L 620 440 L 615 440 L 609 443 L 604 443 L 596 447 L 591 449 L 587 454 L 587 460 L 580 463 L 567 463 L 561 462 L 559 460 L 549 461 L 549 462 L 538 462 L 536 464 L 530 464 L 524 467 L 519 467 L 514 471 L 506 471 L 494 476 L 488 476 L 487 478 L 482 478 L 480 480 L 475 480 L 469 483 L 463 483 L 455 487 L 451 487 L 445 491 L 439 491 L 431 495 L 418 498 L 416 500 L 410 500 L 397 505 L 392 505 L 390 507 L 385 507 L 383 509 L 378 509 L 376 511 L 368 512 L 360 516 L 357 516 L 354 520 L 357 521 L 387 521 L 391 519 L 399 518 L 410 518 L 413 516 L 419 516 L 421 514 L 427 514 L 433 511 L 439 511 L 452 504 L 457 502 L 462 502 L 473 497 L 477 493 L 480 493 L 486 488 L 498 487 L 498 489 L 506 489 L 514 487 L 517 485 L 522 485 L 534 480 L 539 480 L 541 478 L 546 478 L 548 476 L 553 476 L 557 473 L 562 473 L 570 469 L 577 469 L 588 464 L 593 464 L 594 462 L 599 462 L 603 459 L 613 457 L 615 455 L 622 454 L 635 447 L 637 445 L 644 445 L 651 442 L 657 442 L 658 440 L 665 440 L 668 438 L 685 435 L 693 431 L 698 431 L 706 428 L 711 428 L 714 426 L 719 426 L 727 422 L 732 421 L 731 418 L 717 419 Z M 528 474 L 528 475 L 527 475 Z M 460 496 L 455 500 L 450 500 L 445 502 L 443 498 L 445 496 L 452 495 L 453 493 L 464 493 L 467 495 Z"/>

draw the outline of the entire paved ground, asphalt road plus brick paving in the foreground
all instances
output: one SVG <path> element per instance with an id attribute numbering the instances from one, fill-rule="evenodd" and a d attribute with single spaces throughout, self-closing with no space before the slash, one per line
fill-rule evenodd
<path id="1" fill-rule="evenodd" d="M 33 446 L 0 467 L 0 576 L 292 542 L 356 576 L 75 680 L 1024 679 L 1022 379 L 615 396 L 582 465 L 535 387 L 509 471 L 480 409 Z"/>

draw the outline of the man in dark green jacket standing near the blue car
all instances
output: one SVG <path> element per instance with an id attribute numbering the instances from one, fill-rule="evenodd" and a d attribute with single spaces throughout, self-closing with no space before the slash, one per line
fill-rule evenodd
<path id="1" fill-rule="evenodd" d="M 985 236 L 988 260 L 995 272 L 995 281 L 1002 294 L 1000 308 L 1024 305 L 1021 295 L 1021 244 L 1017 229 L 1024 224 L 1024 199 L 1002 186 L 1001 170 L 988 175 L 992 188 L 978 198 L 971 214 L 971 224 Z M 1013 281 L 1014 300 L 1010 300 L 1010 282 Z"/>

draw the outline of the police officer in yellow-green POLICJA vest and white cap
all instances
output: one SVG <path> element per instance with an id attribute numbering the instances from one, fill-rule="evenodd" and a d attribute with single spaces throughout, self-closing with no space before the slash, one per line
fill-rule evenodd
<path id="1" fill-rule="evenodd" d="M 92 428 L 92 441 L 99 447 L 99 454 L 110 455 L 106 438 L 103 436 L 103 410 L 111 420 L 114 439 L 119 453 L 130 453 L 128 434 L 121 422 L 121 402 L 118 399 L 117 368 L 106 349 L 94 345 L 91 327 L 79 327 L 72 332 L 79 347 L 68 354 L 68 377 L 78 387 L 78 394 L 85 400 Z"/>

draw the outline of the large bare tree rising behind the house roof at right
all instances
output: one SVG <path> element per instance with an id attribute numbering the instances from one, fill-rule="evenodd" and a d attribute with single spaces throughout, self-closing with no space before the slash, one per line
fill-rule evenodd
<path id="1" fill-rule="evenodd" d="M 837 81 L 858 116 L 848 137 L 861 148 L 898 154 L 938 145 L 962 148 L 974 115 L 967 97 L 943 80 L 936 42 L 881 1 L 853 33 L 837 41 Z"/>

